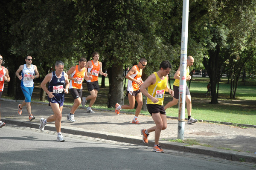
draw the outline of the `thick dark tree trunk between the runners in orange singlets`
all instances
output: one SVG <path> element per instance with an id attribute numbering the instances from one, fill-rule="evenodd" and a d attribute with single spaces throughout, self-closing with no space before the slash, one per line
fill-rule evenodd
<path id="1" fill-rule="evenodd" d="M 109 92 L 108 92 L 108 108 L 115 108 L 116 103 L 120 105 L 124 104 L 124 76 L 123 76 L 123 66 L 114 65 L 112 68 L 108 69 L 109 78 Z"/>

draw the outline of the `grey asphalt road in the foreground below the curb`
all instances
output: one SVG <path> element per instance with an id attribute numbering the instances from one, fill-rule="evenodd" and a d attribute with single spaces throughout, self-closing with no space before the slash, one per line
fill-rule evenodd
<path id="1" fill-rule="evenodd" d="M 256 164 L 9 125 L 0 128 L 0 170 L 256 170 Z"/>

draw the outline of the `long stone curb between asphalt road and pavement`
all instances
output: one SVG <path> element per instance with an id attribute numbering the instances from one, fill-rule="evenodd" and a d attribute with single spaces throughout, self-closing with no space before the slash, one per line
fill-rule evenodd
<path id="1" fill-rule="evenodd" d="M 28 123 L 24 121 L 13 121 L 5 118 L 2 118 L 2 121 L 5 122 L 6 124 L 15 124 L 18 126 L 31 127 L 39 130 L 39 124 L 35 124 L 35 123 Z M 47 126 L 45 127 L 45 130 L 55 132 L 56 131 L 55 125 L 47 124 Z M 139 138 L 135 138 L 127 135 L 113 135 L 108 133 L 99 133 L 98 131 L 78 130 L 76 128 L 66 128 L 66 127 L 61 127 L 61 132 L 73 134 L 73 135 L 83 135 L 83 136 L 88 136 L 93 138 L 102 138 L 106 140 L 125 142 L 130 144 L 145 145 L 142 141 L 142 138 L 139 139 Z M 153 146 L 154 142 L 149 141 L 148 144 L 146 145 Z M 161 146 L 169 150 L 177 150 L 177 151 L 183 151 L 183 152 L 189 152 L 189 153 L 202 154 L 207 156 L 213 156 L 216 158 L 227 159 L 230 161 L 246 161 L 246 162 L 256 163 L 256 154 L 254 153 L 244 153 L 244 152 L 238 152 L 233 150 L 204 147 L 199 145 L 188 146 L 187 144 L 184 144 L 184 143 L 169 142 L 169 141 L 161 141 Z"/>

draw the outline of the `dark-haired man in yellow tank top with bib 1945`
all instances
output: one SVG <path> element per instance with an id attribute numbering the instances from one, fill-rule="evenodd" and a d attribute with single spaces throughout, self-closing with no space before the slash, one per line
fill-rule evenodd
<path id="1" fill-rule="evenodd" d="M 169 61 L 163 61 L 160 64 L 158 72 L 151 74 L 147 80 L 140 87 L 141 92 L 147 99 L 148 112 L 151 114 L 156 126 L 149 129 L 142 129 L 143 142 L 148 143 L 148 135 L 150 132 L 155 132 L 154 148 L 153 151 L 157 153 L 163 153 L 162 148 L 159 145 L 159 138 L 161 130 L 167 128 L 166 112 L 163 108 L 164 92 L 169 91 L 170 95 L 174 95 L 172 89 L 168 87 L 168 74 L 172 69 L 172 65 Z M 148 88 L 148 91 L 146 90 Z"/>

